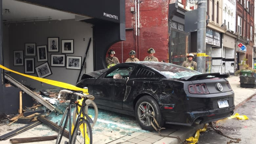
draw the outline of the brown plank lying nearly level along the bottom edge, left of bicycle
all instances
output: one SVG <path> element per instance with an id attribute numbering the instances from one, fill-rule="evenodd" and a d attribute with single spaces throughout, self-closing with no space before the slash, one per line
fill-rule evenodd
<path id="1" fill-rule="evenodd" d="M 52 135 L 52 136 L 39 136 L 39 137 L 27 137 L 27 138 L 12 138 L 10 139 L 10 141 L 11 143 L 25 143 L 25 142 L 54 140 L 56 138 L 57 138 L 57 135 Z"/>

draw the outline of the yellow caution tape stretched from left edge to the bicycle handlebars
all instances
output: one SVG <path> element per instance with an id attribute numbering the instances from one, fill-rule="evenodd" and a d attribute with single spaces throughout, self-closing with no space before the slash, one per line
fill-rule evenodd
<path id="1" fill-rule="evenodd" d="M 23 73 L 16 72 L 16 71 L 13 71 L 11 69 L 8 69 L 8 68 L 6 68 L 6 67 L 4 67 L 2 65 L 0 65 L 0 68 L 5 69 L 5 70 L 10 71 L 10 72 L 14 72 L 14 73 L 23 75 L 25 77 L 32 78 L 34 80 L 38 80 L 40 82 L 44 82 L 44 83 L 53 85 L 53 86 L 57 86 L 57 87 L 65 88 L 65 89 L 70 89 L 70 90 L 74 90 L 74 91 L 82 91 L 82 92 L 84 92 L 86 94 L 89 94 L 88 93 L 88 89 L 78 88 L 78 87 L 76 87 L 74 85 L 71 85 L 71 84 L 68 84 L 68 83 L 64 83 L 64 82 L 59 82 L 59 81 L 55 81 L 55 80 L 50 80 L 50 79 L 45 79 L 45 78 L 40 78 L 40 77 L 36 77 L 36 76 L 31 76 L 31 75 L 23 74 Z"/>

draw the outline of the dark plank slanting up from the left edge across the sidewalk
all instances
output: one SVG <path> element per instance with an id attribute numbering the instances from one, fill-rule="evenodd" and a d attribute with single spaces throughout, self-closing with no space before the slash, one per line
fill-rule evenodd
<path id="1" fill-rule="evenodd" d="M 21 127 L 19 129 L 14 130 L 14 131 L 11 131 L 10 133 L 1 135 L 0 136 L 0 140 L 7 140 L 7 139 L 9 139 L 9 138 L 11 138 L 11 137 L 13 137 L 13 136 L 15 136 L 17 134 L 23 133 L 23 132 L 25 132 L 25 131 L 27 131 L 27 130 L 29 130 L 29 129 L 37 126 L 37 125 L 40 125 L 40 124 L 41 124 L 41 122 L 35 121 L 35 122 L 33 122 L 31 124 L 28 124 L 28 125 L 26 125 L 24 127 Z"/>

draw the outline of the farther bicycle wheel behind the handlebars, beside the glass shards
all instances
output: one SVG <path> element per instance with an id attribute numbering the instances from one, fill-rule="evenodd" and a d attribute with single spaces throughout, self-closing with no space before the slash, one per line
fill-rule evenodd
<path id="1" fill-rule="evenodd" d="M 84 109 L 85 109 L 84 111 L 87 115 L 92 116 L 91 118 L 93 120 L 93 124 L 91 124 L 91 127 L 93 128 L 98 119 L 98 107 L 94 101 L 90 101 L 90 102 L 91 102 L 91 104 L 89 105 L 89 107 L 88 107 L 88 105 L 86 105 L 84 107 Z M 75 125 L 76 118 L 77 118 L 77 113 L 76 113 L 76 107 L 75 107 L 75 109 L 73 111 L 73 115 L 72 115 L 73 125 Z"/>

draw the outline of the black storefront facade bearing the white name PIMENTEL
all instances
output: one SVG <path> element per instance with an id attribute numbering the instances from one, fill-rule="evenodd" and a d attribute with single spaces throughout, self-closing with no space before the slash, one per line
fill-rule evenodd
<path id="1" fill-rule="evenodd" d="M 73 13 L 80 16 L 89 17 L 89 19 L 81 20 L 92 24 L 93 26 L 93 69 L 100 70 L 105 68 L 105 55 L 108 48 L 118 41 L 125 40 L 125 0 L 112 1 L 80 1 L 80 0 L 20 0 L 19 2 L 29 3 L 36 6 L 46 7 L 54 10 Z M 3 11 L 2 0 L 0 0 L 1 12 Z M 3 12 L 2 12 L 3 13 Z M 1 19 L 1 46 L 0 58 L 3 59 L 5 51 L 3 51 L 3 19 Z M 25 25 L 25 24 L 24 24 Z M 86 49 L 86 47 L 85 47 Z M 12 54 L 12 53 L 11 53 Z M 82 54 L 84 55 L 84 54 Z M 3 61 L 0 63 L 4 64 Z M 10 113 L 10 103 L 19 104 L 19 98 L 10 98 L 12 92 L 20 91 L 18 88 L 5 87 L 4 71 L 0 73 L 0 113 Z"/>

